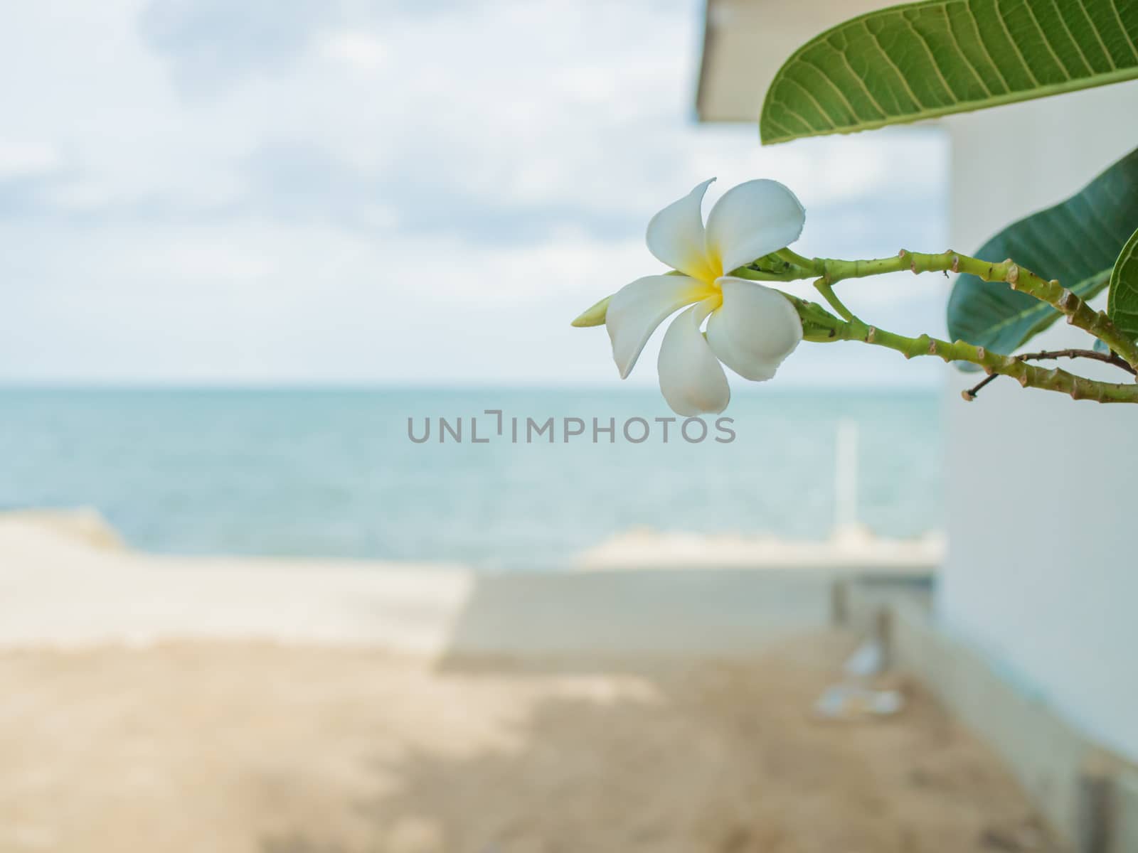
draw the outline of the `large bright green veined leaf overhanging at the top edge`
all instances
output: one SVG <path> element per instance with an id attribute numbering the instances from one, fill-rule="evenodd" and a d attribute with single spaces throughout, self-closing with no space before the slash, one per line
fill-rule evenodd
<path id="1" fill-rule="evenodd" d="M 762 142 L 850 133 L 1138 77 L 1136 0 L 930 0 L 847 20 L 778 69 Z"/>

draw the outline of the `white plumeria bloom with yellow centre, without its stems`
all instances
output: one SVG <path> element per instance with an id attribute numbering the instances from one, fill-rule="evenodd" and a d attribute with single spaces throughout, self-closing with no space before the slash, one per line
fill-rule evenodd
<path id="1" fill-rule="evenodd" d="M 613 293 L 605 315 L 612 357 L 625 379 L 652 332 L 685 305 L 663 336 L 660 390 L 684 416 L 723 412 L 731 389 L 720 362 L 754 381 L 775 375 L 802 340 L 802 322 L 782 293 L 724 275 L 785 248 L 802 233 L 806 212 L 777 181 L 748 181 L 728 190 L 708 214 L 704 181 L 648 224 L 648 248 L 682 275 L 649 275 Z M 707 320 L 707 337 L 700 331 Z"/>

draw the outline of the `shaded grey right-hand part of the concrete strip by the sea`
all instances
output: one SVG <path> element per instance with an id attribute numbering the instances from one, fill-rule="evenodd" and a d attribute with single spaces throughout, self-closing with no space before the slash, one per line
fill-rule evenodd
<path id="1" fill-rule="evenodd" d="M 833 622 L 833 578 L 756 570 L 481 574 L 454 654 L 748 654 Z"/>

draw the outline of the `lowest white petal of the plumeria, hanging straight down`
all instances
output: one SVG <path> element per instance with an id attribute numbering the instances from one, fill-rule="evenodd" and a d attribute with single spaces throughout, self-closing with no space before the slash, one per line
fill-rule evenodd
<path id="1" fill-rule="evenodd" d="M 715 299 L 704 299 L 693 305 L 673 320 L 663 334 L 657 363 L 660 390 L 677 415 L 718 414 L 731 401 L 727 376 L 700 331 L 715 304 Z"/>

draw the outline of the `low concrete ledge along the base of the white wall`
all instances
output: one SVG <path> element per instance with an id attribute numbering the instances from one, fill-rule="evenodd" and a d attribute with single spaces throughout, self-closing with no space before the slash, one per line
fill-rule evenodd
<path id="1" fill-rule="evenodd" d="M 1138 853 L 1138 771 L 1001 678 L 920 603 L 894 597 L 884 613 L 892 663 L 996 750 L 1061 838 L 1078 853 Z"/>

